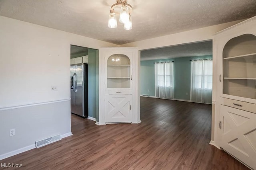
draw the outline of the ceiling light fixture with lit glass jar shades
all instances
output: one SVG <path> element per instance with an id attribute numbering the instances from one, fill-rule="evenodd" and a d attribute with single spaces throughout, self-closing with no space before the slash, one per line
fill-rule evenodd
<path id="1" fill-rule="evenodd" d="M 132 6 L 126 3 L 126 0 L 116 0 L 116 4 L 113 4 L 110 9 L 110 14 L 108 15 L 108 27 L 116 28 L 116 13 L 114 8 L 120 8 L 119 22 L 124 24 L 124 29 L 132 29 L 132 17 L 130 13 L 132 12 Z"/>

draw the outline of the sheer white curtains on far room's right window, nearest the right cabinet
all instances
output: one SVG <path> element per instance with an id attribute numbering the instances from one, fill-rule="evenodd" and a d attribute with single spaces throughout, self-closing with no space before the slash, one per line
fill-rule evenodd
<path id="1" fill-rule="evenodd" d="M 212 60 L 191 62 L 190 100 L 212 103 Z"/>

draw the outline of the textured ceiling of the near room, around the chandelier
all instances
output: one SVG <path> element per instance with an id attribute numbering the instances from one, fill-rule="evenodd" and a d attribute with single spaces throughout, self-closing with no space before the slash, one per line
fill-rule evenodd
<path id="1" fill-rule="evenodd" d="M 116 0 L 0 0 L 0 15 L 118 45 L 256 15 L 256 0 L 127 0 L 132 30 L 108 28 Z"/>

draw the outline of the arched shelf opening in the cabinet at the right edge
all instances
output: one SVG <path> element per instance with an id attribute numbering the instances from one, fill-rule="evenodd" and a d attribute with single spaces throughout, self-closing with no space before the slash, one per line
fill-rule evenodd
<path id="1" fill-rule="evenodd" d="M 223 94 L 256 99 L 256 37 L 241 35 L 223 50 Z"/>

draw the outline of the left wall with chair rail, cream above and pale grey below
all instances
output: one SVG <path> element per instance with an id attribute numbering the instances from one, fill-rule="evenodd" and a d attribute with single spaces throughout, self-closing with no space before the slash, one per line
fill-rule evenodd
<path id="1" fill-rule="evenodd" d="M 70 133 L 71 44 L 94 49 L 116 45 L 2 16 L 0 23 L 1 159 L 36 140 Z M 9 136 L 10 128 L 16 136 Z"/>

